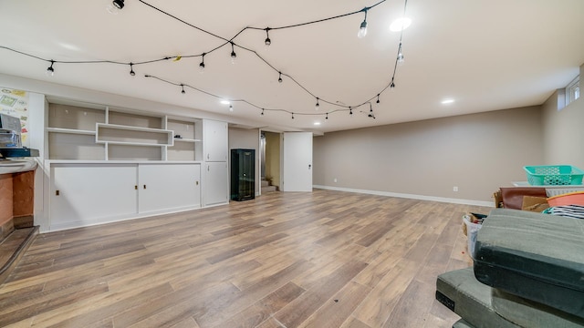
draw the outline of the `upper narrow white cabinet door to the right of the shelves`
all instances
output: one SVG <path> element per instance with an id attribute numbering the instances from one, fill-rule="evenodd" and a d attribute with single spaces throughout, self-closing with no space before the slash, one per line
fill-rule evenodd
<path id="1" fill-rule="evenodd" d="M 204 159 L 206 161 L 227 161 L 227 123 L 203 120 Z"/>

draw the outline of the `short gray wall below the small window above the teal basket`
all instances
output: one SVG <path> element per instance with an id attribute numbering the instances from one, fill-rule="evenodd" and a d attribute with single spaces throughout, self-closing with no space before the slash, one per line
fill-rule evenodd
<path id="1" fill-rule="evenodd" d="M 584 65 L 580 67 L 580 89 Z M 568 164 L 584 169 L 584 97 L 558 111 L 558 92 L 543 105 L 545 163 Z"/>

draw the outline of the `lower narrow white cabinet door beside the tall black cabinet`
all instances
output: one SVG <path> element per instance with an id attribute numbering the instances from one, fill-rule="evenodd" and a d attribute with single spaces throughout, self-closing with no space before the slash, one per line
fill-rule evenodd
<path id="1" fill-rule="evenodd" d="M 229 197 L 229 175 L 226 162 L 205 163 L 204 205 L 225 204 Z"/>

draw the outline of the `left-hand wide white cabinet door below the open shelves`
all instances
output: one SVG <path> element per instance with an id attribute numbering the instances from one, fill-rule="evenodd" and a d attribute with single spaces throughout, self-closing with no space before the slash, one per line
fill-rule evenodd
<path id="1" fill-rule="evenodd" d="M 135 164 L 51 166 L 51 231 L 119 220 L 136 214 Z"/>

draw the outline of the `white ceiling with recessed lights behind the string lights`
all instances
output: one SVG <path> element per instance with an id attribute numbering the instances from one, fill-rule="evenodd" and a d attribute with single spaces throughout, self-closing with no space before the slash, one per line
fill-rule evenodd
<path id="1" fill-rule="evenodd" d="M 144 0 L 184 22 L 230 39 L 245 26 L 288 26 L 343 15 L 378 0 Z M 141 62 L 165 56 L 201 55 L 224 43 L 192 26 L 163 15 L 139 0 L 126 0 L 119 15 L 105 8 L 109 0 L 0 1 L 0 46 L 57 61 L 111 60 Z M 391 82 L 400 34 L 389 31 L 403 15 L 404 0 L 387 0 L 368 12 L 368 35 L 358 38 L 363 14 L 266 32 L 245 30 L 231 46 L 204 57 L 183 57 L 134 66 L 55 64 L 0 49 L 0 73 L 85 87 L 176 106 L 228 115 L 233 122 L 257 127 L 287 127 L 317 132 L 362 128 L 466 113 L 539 105 L 553 90 L 565 87 L 584 64 L 582 0 L 409 0 L 403 31 L 405 63 L 398 67 L 397 87 L 376 95 Z M 238 46 L 253 49 L 258 56 Z M 277 70 L 285 76 L 278 83 Z M 219 99 L 144 75 L 202 89 L 217 96 L 245 99 L 260 108 L 235 102 L 234 111 Z M 332 103 L 369 105 L 331 113 L 338 106 L 320 103 L 295 84 Z M 11 87 L 11 86 L 3 86 Z M 452 97 L 455 102 L 442 105 Z M 345 108 L 346 109 L 346 108 Z M 325 114 L 328 120 L 325 120 Z M 311 114 L 311 115 L 304 115 Z M 316 114 L 316 115 L 313 115 Z M 322 125 L 314 126 L 315 121 Z"/>

